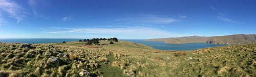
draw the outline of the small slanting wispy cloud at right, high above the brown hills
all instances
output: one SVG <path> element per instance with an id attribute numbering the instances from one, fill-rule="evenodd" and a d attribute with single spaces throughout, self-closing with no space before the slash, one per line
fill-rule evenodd
<path id="1" fill-rule="evenodd" d="M 237 23 L 237 24 L 245 23 L 245 22 L 234 21 L 234 20 L 231 20 L 229 18 L 226 18 L 224 16 L 224 14 L 222 14 L 222 13 L 218 13 L 217 19 L 225 21 L 225 22 L 229 22 L 229 23 Z"/>

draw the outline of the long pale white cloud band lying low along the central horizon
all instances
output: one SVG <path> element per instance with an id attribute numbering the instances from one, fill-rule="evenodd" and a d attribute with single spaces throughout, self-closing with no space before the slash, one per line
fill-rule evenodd
<path id="1" fill-rule="evenodd" d="M 65 33 L 84 33 L 84 34 L 103 34 L 103 35 L 123 35 L 123 36 L 130 36 L 130 37 L 148 37 L 148 38 L 158 38 L 158 37 L 177 37 L 183 36 L 182 34 L 171 33 L 165 30 L 157 29 L 157 28 L 150 28 L 150 27 L 117 27 L 117 28 L 66 28 L 66 29 L 52 29 L 51 28 L 41 28 L 41 29 L 48 29 L 46 33 L 50 34 L 65 34 Z M 49 31 L 52 30 L 52 31 Z"/>

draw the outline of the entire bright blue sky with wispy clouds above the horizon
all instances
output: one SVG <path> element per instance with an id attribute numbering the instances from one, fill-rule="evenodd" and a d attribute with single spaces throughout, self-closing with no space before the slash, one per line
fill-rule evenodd
<path id="1" fill-rule="evenodd" d="M 0 0 L 0 38 L 254 34 L 255 18 L 252 0 Z"/>

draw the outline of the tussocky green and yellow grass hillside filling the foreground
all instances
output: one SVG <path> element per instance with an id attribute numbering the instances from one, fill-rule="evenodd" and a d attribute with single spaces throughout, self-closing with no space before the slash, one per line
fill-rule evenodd
<path id="1" fill-rule="evenodd" d="M 256 44 L 163 51 L 132 42 L 0 43 L 0 76 L 255 76 Z M 67 57 L 68 55 L 68 57 Z"/>

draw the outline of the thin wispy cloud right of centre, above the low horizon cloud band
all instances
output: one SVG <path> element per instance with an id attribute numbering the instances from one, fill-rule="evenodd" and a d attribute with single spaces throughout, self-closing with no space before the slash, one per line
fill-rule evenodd
<path id="1" fill-rule="evenodd" d="M 114 19 L 116 21 L 127 21 L 127 22 L 145 22 L 145 23 L 156 23 L 156 24 L 167 24 L 177 21 L 173 18 L 168 17 L 162 17 L 162 16 L 156 16 L 151 14 L 143 14 L 133 17 L 125 17 L 125 18 L 119 18 Z"/>

